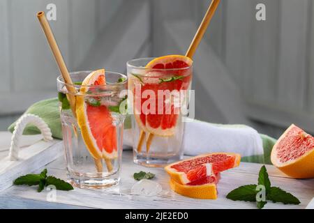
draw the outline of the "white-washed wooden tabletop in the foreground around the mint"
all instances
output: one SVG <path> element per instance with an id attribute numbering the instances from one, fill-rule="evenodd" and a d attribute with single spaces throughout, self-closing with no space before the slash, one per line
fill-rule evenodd
<path id="1" fill-rule="evenodd" d="M 257 173 L 261 164 L 241 163 L 240 167 L 225 171 L 218 183 L 218 199 L 200 200 L 182 197 L 170 190 L 168 176 L 163 169 L 147 169 L 133 163 L 131 151 L 124 151 L 121 175 L 121 185 L 109 190 L 82 190 L 75 188 L 70 192 L 57 191 L 57 199 L 54 203 L 48 202 L 49 192 L 36 192 L 36 187 L 13 186 L 0 193 L 0 199 L 5 201 L 21 200 L 16 206 L 29 207 L 28 203 L 38 202 L 41 208 L 64 208 L 75 206 L 77 208 L 255 208 L 255 203 L 242 201 L 230 201 L 226 194 L 236 187 L 244 184 L 257 183 Z M 48 173 L 59 178 L 66 179 L 64 160 L 60 158 L 47 165 Z M 305 208 L 314 196 L 314 179 L 294 180 L 287 178 L 275 167 L 267 165 L 267 170 L 274 186 L 282 187 L 292 192 L 301 201 L 299 206 L 283 205 L 281 203 L 268 203 L 265 208 Z M 40 171 L 40 170 L 38 170 Z M 151 171 L 156 174 L 155 181 L 163 187 L 156 197 L 141 197 L 130 195 L 130 188 L 136 183 L 133 173 L 137 171 Z M 36 203 L 35 202 L 35 203 Z M 15 208 L 15 203 L 0 203 L 0 208 Z"/>

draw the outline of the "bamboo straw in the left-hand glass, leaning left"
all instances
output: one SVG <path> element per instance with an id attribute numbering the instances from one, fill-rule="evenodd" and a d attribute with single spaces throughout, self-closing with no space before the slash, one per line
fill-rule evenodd
<path id="1" fill-rule="evenodd" d="M 70 102 L 70 108 L 72 109 L 73 116 L 76 118 L 76 111 L 75 111 L 75 95 L 76 89 L 73 86 L 72 79 L 68 73 L 68 68 L 66 68 L 66 63 L 63 60 L 62 54 L 60 52 L 60 49 L 57 45 L 57 41 L 54 38 L 54 34 L 52 33 L 52 30 L 50 28 L 50 24 L 48 23 L 45 13 L 44 12 L 38 12 L 37 13 L 38 20 L 41 24 L 41 27 L 43 28 L 43 31 L 45 33 L 45 36 L 47 38 L 47 41 L 51 47 L 52 54 L 54 54 L 54 59 L 57 62 L 57 65 L 59 67 L 59 70 L 61 72 L 61 75 L 63 77 L 64 82 L 66 83 L 66 89 L 70 94 L 68 94 L 68 100 Z M 110 160 L 105 160 L 105 163 L 107 165 L 108 171 L 112 171 L 112 163 Z M 95 159 L 95 167 L 98 172 L 103 171 L 103 164 L 101 162 L 101 159 Z"/>

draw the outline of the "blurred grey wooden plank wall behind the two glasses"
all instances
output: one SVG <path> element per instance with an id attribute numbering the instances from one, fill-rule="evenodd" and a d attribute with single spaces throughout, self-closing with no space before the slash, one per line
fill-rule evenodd
<path id="1" fill-rule="evenodd" d="M 209 0 L 0 0 L 0 129 L 56 95 L 57 66 L 35 13 L 51 22 L 70 70 L 125 72 L 140 56 L 184 54 Z M 255 20 L 257 3 L 266 21 Z M 13 13 L 14 12 L 14 13 Z M 278 137 L 314 132 L 313 0 L 222 0 L 195 55 L 196 118 Z"/>

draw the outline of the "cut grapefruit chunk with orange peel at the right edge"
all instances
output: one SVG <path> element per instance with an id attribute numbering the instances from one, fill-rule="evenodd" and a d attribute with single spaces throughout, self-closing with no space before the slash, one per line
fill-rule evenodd
<path id="1" fill-rule="evenodd" d="M 271 162 L 292 178 L 314 178 L 314 137 L 290 125 L 274 145 Z"/>

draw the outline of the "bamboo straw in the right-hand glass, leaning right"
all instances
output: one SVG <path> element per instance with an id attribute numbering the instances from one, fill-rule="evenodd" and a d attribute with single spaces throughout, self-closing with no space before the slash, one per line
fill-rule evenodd
<path id="1" fill-rule="evenodd" d="M 207 31 L 207 27 L 209 26 L 211 19 L 213 18 L 216 9 L 218 8 L 218 5 L 220 3 L 220 0 L 212 0 L 211 4 L 209 5 L 209 8 L 207 10 L 207 13 L 205 14 L 200 27 L 198 28 L 192 43 L 190 43 L 190 47 L 188 48 L 188 51 L 186 52 L 186 56 L 189 57 L 190 59 L 193 59 L 193 56 L 195 54 L 195 51 L 200 45 L 200 42 L 204 36 L 204 33 Z M 137 145 L 137 151 L 140 152 L 142 151 L 142 144 L 144 141 L 146 133 L 144 131 L 141 131 L 140 133 L 140 141 Z M 149 133 L 147 143 L 146 143 L 146 148 L 147 148 L 147 153 L 149 152 L 149 148 L 151 146 L 151 142 L 154 139 L 154 134 Z"/>

